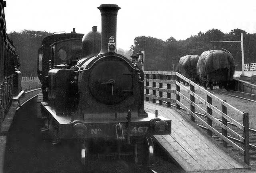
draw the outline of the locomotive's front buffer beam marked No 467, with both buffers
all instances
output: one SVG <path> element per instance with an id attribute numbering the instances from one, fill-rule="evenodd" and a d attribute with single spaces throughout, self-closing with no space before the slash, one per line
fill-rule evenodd
<path id="1" fill-rule="evenodd" d="M 149 136 L 158 134 L 170 134 L 171 121 L 164 121 L 164 117 L 149 119 L 148 121 L 86 123 L 75 121 L 70 125 L 70 131 L 74 131 L 73 137 L 79 138 L 106 138 L 128 139 L 128 136 Z M 138 120 L 138 119 L 137 119 Z M 158 123 L 162 123 L 158 125 Z M 159 127 L 161 126 L 161 127 Z"/>

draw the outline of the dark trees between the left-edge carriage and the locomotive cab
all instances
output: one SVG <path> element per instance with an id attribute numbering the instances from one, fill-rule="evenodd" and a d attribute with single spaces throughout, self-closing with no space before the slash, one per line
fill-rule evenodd
<path id="1" fill-rule="evenodd" d="M 19 55 L 20 70 L 22 73 L 33 73 L 37 71 L 38 49 L 42 45 L 42 40 L 51 35 L 46 31 L 11 32 L 8 34 L 16 47 L 16 54 Z"/>

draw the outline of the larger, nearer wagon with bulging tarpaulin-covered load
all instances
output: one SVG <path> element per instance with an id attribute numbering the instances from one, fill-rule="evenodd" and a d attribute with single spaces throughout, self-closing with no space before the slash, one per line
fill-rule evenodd
<path id="1" fill-rule="evenodd" d="M 228 87 L 235 72 L 234 58 L 228 51 L 208 50 L 199 57 L 196 70 L 205 88 Z"/>

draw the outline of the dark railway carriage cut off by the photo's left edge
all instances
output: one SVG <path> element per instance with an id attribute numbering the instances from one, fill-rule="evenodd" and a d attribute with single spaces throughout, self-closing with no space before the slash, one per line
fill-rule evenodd
<path id="1" fill-rule="evenodd" d="M 6 33 L 4 14 L 6 2 L 0 0 L 0 128 L 12 101 L 19 101 L 22 74 L 18 69 L 19 56 L 12 40 Z"/>

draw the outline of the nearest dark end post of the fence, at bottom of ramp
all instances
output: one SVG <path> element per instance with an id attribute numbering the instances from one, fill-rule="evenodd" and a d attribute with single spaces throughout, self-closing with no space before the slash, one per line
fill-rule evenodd
<path id="1" fill-rule="evenodd" d="M 244 113 L 244 163 L 250 166 L 249 113 Z"/>

